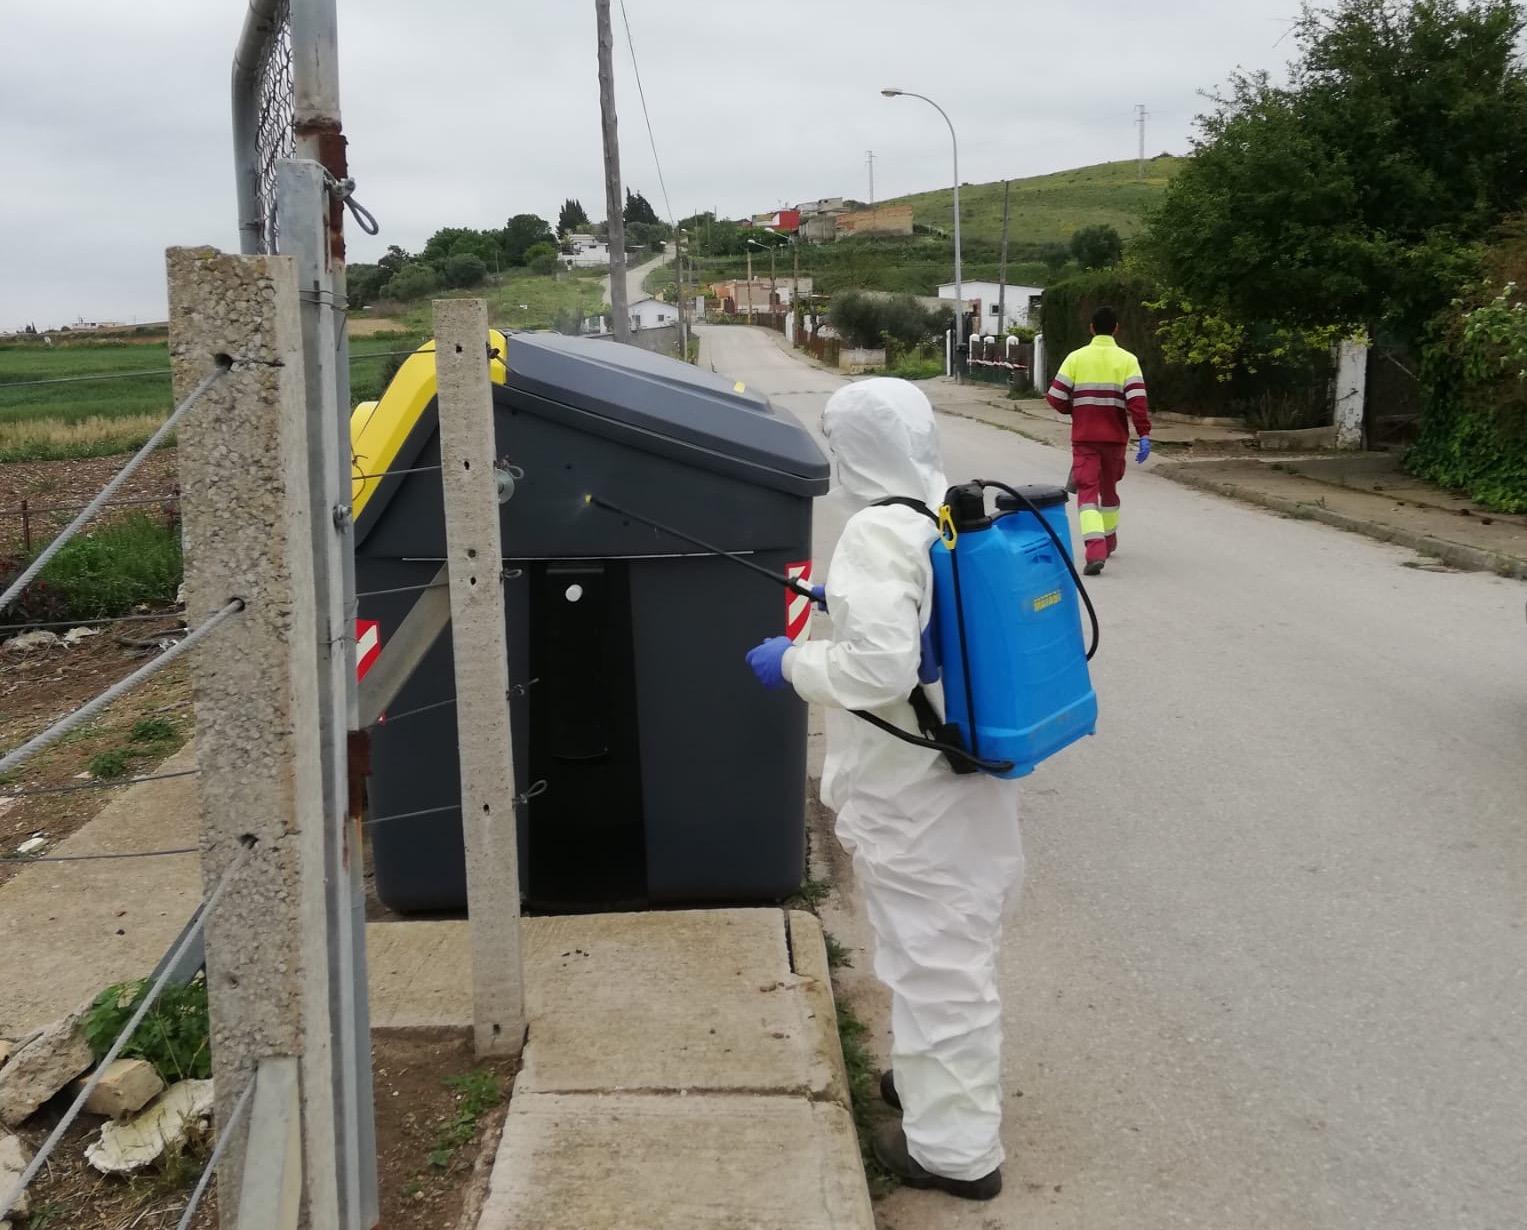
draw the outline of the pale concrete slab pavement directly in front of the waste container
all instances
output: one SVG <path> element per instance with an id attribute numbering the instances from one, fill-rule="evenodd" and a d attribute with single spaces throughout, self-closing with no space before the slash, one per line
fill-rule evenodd
<path id="1" fill-rule="evenodd" d="M 470 1021 L 466 923 L 366 939 L 373 1027 Z M 479 1230 L 873 1227 L 814 916 L 527 919 L 524 943 L 530 1029 Z"/>

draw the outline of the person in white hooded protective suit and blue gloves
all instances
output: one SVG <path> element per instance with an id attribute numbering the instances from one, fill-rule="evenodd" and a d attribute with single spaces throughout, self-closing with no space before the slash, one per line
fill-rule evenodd
<path id="1" fill-rule="evenodd" d="M 918 685 L 933 610 L 931 508 L 947 482 L 933 407 L 904 380 L 863 380 L 828 401 L 822 429 L 837 482 L 860 511 L 843 528 L 820 601 L 832 638 L 765 641 L 748 662 L 765 685 L 828 708 L 822 801 L 854 858 L 875 974 L 890 989 L 892 1070 L 881 1079 L 901 1126 L 875 1154 L 904 1183 L 970 1199 L 1002 1190 L 1002 1004 L 997 945 L 1023 877 L 1015 783 L 956 775 L 944 755 L 852 714 L 916 734 Z M 783 642 L 783 644 L 780 644 Z M 941 690 L 928 688 L 942 708 Z"/>

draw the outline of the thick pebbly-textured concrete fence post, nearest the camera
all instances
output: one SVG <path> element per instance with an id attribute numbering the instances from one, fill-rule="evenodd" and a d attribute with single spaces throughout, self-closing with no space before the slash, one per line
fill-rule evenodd
<path id="1" fill-rule="evenodd" d="M 194 626 L 231 598 L 246 603 L 228 635 L 192 659 L 205 884 L 217 884 L 240 845 L 253 847 L 206 926 L 218 1119 L 226 1122 L 263 1062 L 296 1059 L 304 1224 L 337 1230 L 296 275 L 287 256 L 179 247 L 166 259 L 176 395 L 214 363 L 231 363 L 180 430 L 188 618 Z M 224 1230 L 238 1225 L 244 1143 L 234 1140 L 218 1174 Z"/>

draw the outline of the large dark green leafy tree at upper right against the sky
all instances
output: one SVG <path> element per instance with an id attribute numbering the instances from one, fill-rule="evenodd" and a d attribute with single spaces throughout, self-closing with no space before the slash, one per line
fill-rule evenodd
<path id="1" fill-rule="evenodd" d="M 1287 84 L 1231 78 L 1142 252 L 1240 320 L 1419 337 L 1527 192 L 1518 0 L 1306 6 Z"/>

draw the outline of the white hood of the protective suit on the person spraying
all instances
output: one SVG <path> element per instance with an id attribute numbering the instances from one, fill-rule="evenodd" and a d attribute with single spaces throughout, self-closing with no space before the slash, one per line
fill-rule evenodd
<path id="1" fill-rule="evenodd" d="M 875 377 L 838 389 L 822 411 L 838 487 L 857 505 L 912 496 L 938 508 L 948 482 L 933 406 L 906 380 Z"/>

